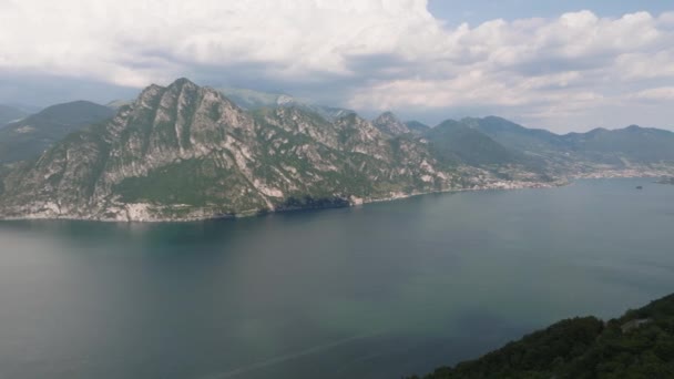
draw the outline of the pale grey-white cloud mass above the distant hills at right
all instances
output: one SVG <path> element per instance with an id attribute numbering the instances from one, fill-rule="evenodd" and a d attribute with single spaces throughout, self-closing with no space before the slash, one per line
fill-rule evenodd
<path id="1" fill-rule="evenodd" d="M 662 81 L 674 84 L 671 19 L 670 13 L 655 18 L 647 12 L 601 19 L 581 11 L 555 20 L 496 20 L 472 29 L 460 25 L 447 34 L 462 59 L 447 55 L 429 63 L 429 71 L 440 73 L 432 78 L 410 75 L 360 88 L 350 105 L 451 109 L 480 104 L 510 107 L 513 112 L 509 113 L 524 122 L 559 130 L 579 122 L 622 126 L 624 112 L 621 117 L 598 117 L 594 111 L 629 109 L 626 100 L 635 99 L 631 94 L 654 85 L 653 80 L 657 85 Z M 642 90 L 639 99 L 654 100 L 663 91 Z M 581 121 L 579 114 L 586 117 Z"/>

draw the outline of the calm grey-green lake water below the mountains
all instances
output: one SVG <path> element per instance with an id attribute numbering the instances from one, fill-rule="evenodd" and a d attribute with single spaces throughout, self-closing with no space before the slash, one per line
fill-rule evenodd
<path id="1" fill-rule="evenodd" d="M 673 291 L 674 186 L 649 180 L 0 223 L 0 378 L 400 378 Z"/>

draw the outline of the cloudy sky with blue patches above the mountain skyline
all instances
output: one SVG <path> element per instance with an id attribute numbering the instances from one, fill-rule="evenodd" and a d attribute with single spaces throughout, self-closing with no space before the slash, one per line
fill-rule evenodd
<path id="1" fill-rule="evenodd" d="M 186 76 L 436 124 L 674 130 L 672 1 L 0 0 L 0 103 Z"/>

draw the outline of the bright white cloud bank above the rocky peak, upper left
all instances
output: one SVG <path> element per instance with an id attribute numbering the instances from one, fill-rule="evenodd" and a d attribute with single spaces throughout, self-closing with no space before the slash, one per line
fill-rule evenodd
<path id="1" fill-rule="evenodd" d="M 0 23 L 4 69 L 131 85 L 175 74 L 175 62 L 351 74 L 348 57 L 413 58 L 423 53 L 416 41 L 441 35 L 426 2 L 415 0 L 4 0 Z M 151 53 L 164 62 L 139 68 Z"/>

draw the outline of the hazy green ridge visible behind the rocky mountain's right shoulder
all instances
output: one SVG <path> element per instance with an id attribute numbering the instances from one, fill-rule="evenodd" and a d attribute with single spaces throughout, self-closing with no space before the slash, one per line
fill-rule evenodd
<path id="1" fill-rule="evenodd" d="M 246 89 L 225 88 L 218 89 L 227 99 L 241 109 L 254 111 L 262 107 L 299 107 L 305 111 L 319 114 L 328 121 L 335 121 L 341 116 L 356 113 L 343 107 L 318 105 L 299 101 L 285 93 L 261 92 Z"/>

